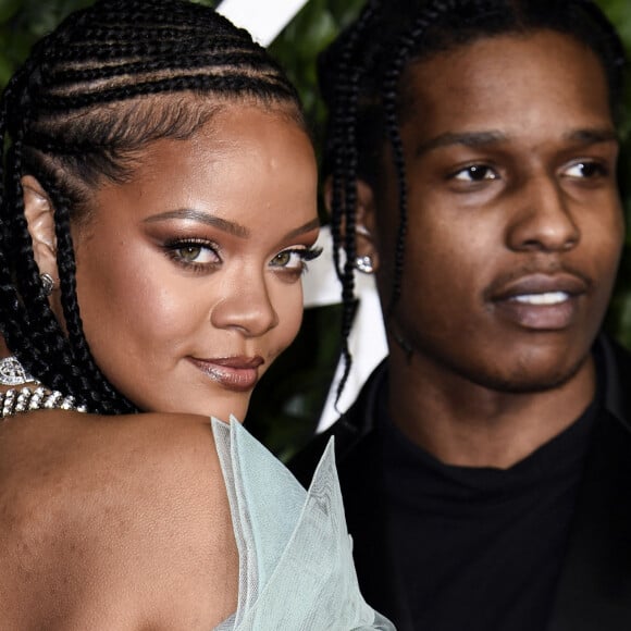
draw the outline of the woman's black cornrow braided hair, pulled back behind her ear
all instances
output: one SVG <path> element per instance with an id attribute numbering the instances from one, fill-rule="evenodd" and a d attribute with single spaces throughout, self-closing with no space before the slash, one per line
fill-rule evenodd
<path id="1" fill-rule="evenodd" d="M 135 411 L 83 333 L 71 224 L 103 178 L 125 182 L 147 144 L 185 139 L 226 102 L 282 108 L 297 94 L 243 29 L 180 0 L 101 0 L 40 40 L 0 100 L 0 329 L 25 368 L 101 413 Z M 54 209 L 65 331 L 49 308 L 24 215 L 33 175 Z"/>

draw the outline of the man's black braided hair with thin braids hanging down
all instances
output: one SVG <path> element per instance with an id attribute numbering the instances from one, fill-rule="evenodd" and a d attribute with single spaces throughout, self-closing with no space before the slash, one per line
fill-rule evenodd
<path id="1" fill-rule="evenodd" d="M 624 51 L 614 26 L 592 0 L 369 0 L 359 17 L 320 55 L 319 82 L 329 108 L 322 171 L 332 183 L 331 230 L 344 302 L 345 372 L 338 397 L 351 362 L 347 339 L 355 314 L 356 186 L 358 180 L 379 186 L 386 144 L 398 193 L 398 231 L 392 244 L 394 283 L 386 322 L 401 296 L 408 208 L 399 127 L 406 115 L 401 98 L 406 70 L 411 62 L 478 39 L 541 29 L 569 35 L 597 55 L 617 119 Z"/>

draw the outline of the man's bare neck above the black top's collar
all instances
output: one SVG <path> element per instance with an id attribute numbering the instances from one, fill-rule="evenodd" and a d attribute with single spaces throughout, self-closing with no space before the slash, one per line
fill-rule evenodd
<path id="1" fill-rule="evenodd" d="M 562 385 L 515 394 L 391 356 L 389 413 L 407 437 L 438 460 L 505 469 L 560 434 L 595 396 L 590 358 Z"/>

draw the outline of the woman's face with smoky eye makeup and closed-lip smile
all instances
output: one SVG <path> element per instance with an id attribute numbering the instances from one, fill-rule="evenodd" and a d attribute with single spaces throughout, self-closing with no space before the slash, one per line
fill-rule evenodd
<path id="1" fill-rule="evenodd" d="M 243 419 L 300 325 L 318 236 L 309 138 L 284 113 L 230 104 L 139 162 L 73 234 L 90 349 L 141 410 Z"/>

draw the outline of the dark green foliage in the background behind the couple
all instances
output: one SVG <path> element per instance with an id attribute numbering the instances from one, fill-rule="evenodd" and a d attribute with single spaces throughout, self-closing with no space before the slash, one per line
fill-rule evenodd
<path id="1" fill-rule="evenodd" d="M 215 0 L 197 0 L 216 5 Z M 265 0 L 259 0 L 264 2 Z M 318 98 L 316 57 L 357 14 L 364 0 L 310 0 L 271 46 L 298 86 L 316 141 L 324 120 Z M 30 46 L 71 11 L 92 0 L 0 0 L 0 87 L 26 57 Z M 599 0 L 616 24 L 631 55 L 631 2 Z M 622 123 L 620 186 L 631 215 L 631 87 Z M 629 223 L 629 222 L 628 222 Z M 607 329 L 631 348 L 631 230 L 627 231 L 616 293 Z M 263 378 L 252 399 L 248 426 L 281 457 L 288 457 L 312 433 L 337 359 L 339 310 L 309 310 L 296 343 Z"/>

